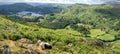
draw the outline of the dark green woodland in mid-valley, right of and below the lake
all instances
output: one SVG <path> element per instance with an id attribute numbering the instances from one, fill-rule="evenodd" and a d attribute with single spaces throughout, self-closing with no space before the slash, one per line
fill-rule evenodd
<path id="1" fill-rule="evenodd" d="M 70 24 L 76 24 L 79 22 L 78 18 L 70 18 L 67 16 L 62 16 L 62 15 L 56 15 L 56 16 L 51 16 L 51 15 L 46 15 L 43 18 L 40 18 L 40 23 L 38 25 L 47 27 L 47 28 L 52 28 L 52 29 L 64 29 L 66 26 Z"/>

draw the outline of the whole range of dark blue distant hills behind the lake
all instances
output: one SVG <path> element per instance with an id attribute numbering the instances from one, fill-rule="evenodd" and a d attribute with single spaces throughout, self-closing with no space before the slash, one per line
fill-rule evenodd
<path id="1" fill-rule="evenodd" d="M 60 12 L 62 4 L 43 4 L 43 3 L 14 3 L 0 5 L 0 14 L 16 14 L 21 11 L 31 11 L 40 14 L 50 14 Z"/>

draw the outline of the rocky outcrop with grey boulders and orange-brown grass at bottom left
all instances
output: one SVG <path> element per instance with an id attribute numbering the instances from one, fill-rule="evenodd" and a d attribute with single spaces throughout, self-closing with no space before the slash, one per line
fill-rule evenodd
<path id="1" fill-rule="evenodd" d="M 41 40 L 32 43 L 30 39 L 22 38 L 18 41 L 0 42 L 0 54 L 46 54 L 46 49 L 52 49 L 52 46 Z"/>

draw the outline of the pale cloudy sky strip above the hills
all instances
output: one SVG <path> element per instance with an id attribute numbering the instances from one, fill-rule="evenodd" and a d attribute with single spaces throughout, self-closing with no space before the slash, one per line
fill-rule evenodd
<path id="1" fill-rule="evenodd" d="M 108 1 L 120 0 L 0 0 L 0 2 L 38 2 L 38 3 L 86 3 L 86 4 L 101 4 Z"/>

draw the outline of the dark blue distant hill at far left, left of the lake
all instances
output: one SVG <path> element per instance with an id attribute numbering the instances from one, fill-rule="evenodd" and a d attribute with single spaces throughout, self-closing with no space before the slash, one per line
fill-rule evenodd
<path id="1" fill-rule="evenodd" d="M 29 8 L 32 8 L 32 6 L 26 3 L 0 5 L 0 14 L 16 14 Z"/>

